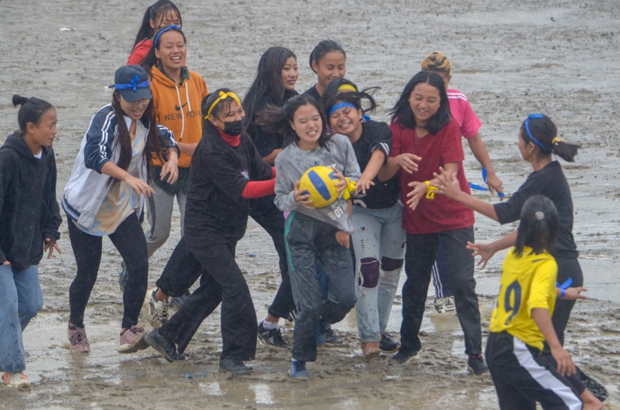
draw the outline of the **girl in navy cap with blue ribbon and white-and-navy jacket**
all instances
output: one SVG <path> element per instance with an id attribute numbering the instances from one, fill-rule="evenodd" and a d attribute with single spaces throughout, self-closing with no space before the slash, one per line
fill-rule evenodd
<path id="1" fill-rule="evenodd" d="M 101 261 L 101 238 L 110 237 L 130 272 L 123 292 L 123 323 L 118 352 L 144 349 L 137 327 L 147 287 L 149 262 L 139 221 L 144 197 L 154 194 L 147 183 L 154 158 L 163 166 L 158 176 L 168 184 L 178 178 L 178 148 L 172 132 L 157 125 L 147 73 L 139 65 L 116 70 L 112 102 L 93 116 L 65 186 L 63 209 L 77 273 L 69 288 L 71 349 L 90 352 L 84 310 Z"/>

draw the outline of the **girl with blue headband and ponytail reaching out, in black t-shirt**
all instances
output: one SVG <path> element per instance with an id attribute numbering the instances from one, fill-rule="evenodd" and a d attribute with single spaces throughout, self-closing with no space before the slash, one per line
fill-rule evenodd
<path id="1" fill-rule="evenodd" d="M 577 246 L 572 237 L 573 209 L 570 187 L 559 162 L 552 158 L 552 154 L 555 154 L 568 162 L 573 162 L 579 145 L 564 142 L 559 138 L 557 127 L 548 116 L 530 114 L 521 124 L 517 146 L 521 152 L 521 157 L 531 164 L 533 172 L 506 202 L 490 204 L 472 197 L 468 192 L 464 192 L 457 186 L 452 172 L 445 169 L 440 170 L 441 172 L 437 174 L 437 181 L 433 185 L 440 187 L 438 193 L 454 199 L 459 204 L 468 206 L 468 208 L 482 213 L 482 215 L 490 217 L 500 224 L 519 220 L 521 208 L 523 208 L 526 199 L 533 195 L 545 195 L 551 199 L 557 208 L 559 218 L 558 234 L 553 246 L 550 247 L 550 253 L 557 262 L 557 281 L 562 284 L 570 279 L 573 287 L 580 288 L 583 286 L 583 272 L 581 272 L 579 261 L 577 261 Z M 482 263 L 484 268 L 486 261 L 495 252 L 515 246 L 516 240 L 517 230 L 492 244 L 468 243 L 468 248 L 474 250 L 474 255 L 482 256 L 479 264 Z M 553 327 L 563 345 L 564 330 L 573 305 L 575 305 L 575 300 L 560 299 L 553 311 Z M 570 381 L 581 395 L 586 394 L 587 397 L 582 396 L 586 404 L 592 402 L 594 396 L 586 391 L 581 378 L 578 376 L 571 377 Z M 597 385 L 599 384 L 597 383 Z"/>

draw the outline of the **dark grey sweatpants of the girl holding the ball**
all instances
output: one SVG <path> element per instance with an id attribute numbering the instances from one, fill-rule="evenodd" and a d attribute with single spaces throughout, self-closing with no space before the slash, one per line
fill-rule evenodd
<path id="1" fill-rule="evenodd" d="M 285 226 L 287 258 L 293 299 L 298 309 L 293 331 L 293 358 L 316 360 L 316 327 L 319 316 L 327 323 L 342 321 L 355 306 L 355 281 L 351 252 L 338 244 L 337 229 L 291 212 Z M 316 261 L 329 277 L 327 300 L 322 301 Z"/>

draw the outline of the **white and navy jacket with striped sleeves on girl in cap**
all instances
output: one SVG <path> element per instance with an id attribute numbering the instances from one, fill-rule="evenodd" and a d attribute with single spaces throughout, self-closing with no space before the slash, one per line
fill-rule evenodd
<path id="1" fill-rule="evenodd" d="M 127 116 L 123 116 L 123 118 L 127 128 L 129 128 L 132 119 Z M 105 184 L 110 176 L 101 173 L 101 168 L 108 161 L 116 164 L 120 156 L 120 147 L 114 143 L 116 136 L 118 136 L 117 121 L 118 118 L 116 118 L 111 103 L 101 107 L 95 113 L 81 142 L 69 182 L 65 186 L 63 209 L 68 217 L 86 228 L 92 226 L 108 192 L 108 187 Z M 163 125 L 157 127 L 163 148 L 174 147 L 178 152 L 172 131 Z M 149 121 L 141 118 L 138 121 L 136 133 L 147 133 L 148 129 Z M 148 182 L 146 164 L 140 167 L 136 177 Z M 140 197 L 138 209 L 142 210 L 143 205 L 144 197 Z"/>

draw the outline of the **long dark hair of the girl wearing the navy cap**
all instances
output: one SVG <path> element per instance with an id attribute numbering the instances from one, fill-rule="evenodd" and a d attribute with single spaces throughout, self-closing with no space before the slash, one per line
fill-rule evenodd
<path id="1" fill-rule="evenodd" d="M 114 114 L 116 114 L 116 138 L 114 139 L 114 144 L 117 144 L 119 148 L 116 166 L 127 171 L 132 162 L 132 137 L 125 123 L 125 111 L 121 108 L 121 93 L 118 91 L 114 91 L 112 94 L 112 109 L 114 110 Z M 148 120 L 149 130 L 147 131 L 142 158 L 147 167 L 147 175 L 150 177 L 152 160 L 155 158 L 163 160 L 166 154 L 159 142 L 159 129 L 155 120 L 155 108 L 152 99 L 149 101 L 149 105 L 147 105 L 147 108 L 142 114 L 142 118 L 138 121 L 143 119 Z M 114 190 L 118 188 L 118 184 L 120 183 L 121 180 L 110 177 L 106 185 L 110 187 L 110 190 Z"/>

